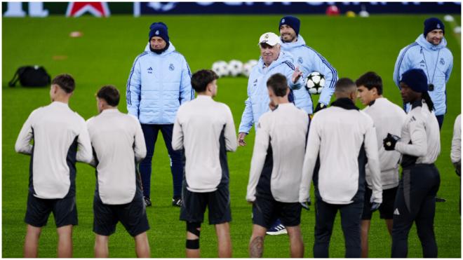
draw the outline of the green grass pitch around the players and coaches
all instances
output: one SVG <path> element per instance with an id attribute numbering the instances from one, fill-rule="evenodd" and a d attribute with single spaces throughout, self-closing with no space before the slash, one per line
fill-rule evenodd
<path id="1" fill-rule="evenodd" d="M 443 15 L 438 15 L 442 18 Z M 337 69 L 340 77 L 358 78 L 365 71 L 376 71 L 384 81 L 384 95 L 401 104 L 398 89 L 392 82 L 394 62 L 401 48 L 422 33 L 422 22 L 429 15 L 372 15 L 370 18 L 299 15 L 301 34 Z M 26 226 L 29 182 L 29 156 L 15 153 L 14 144 L 22 123 L 33 109 L 50 102 L 48 88 L 8 88 L 15 69 L 27 64 L 41 64 L 53 76 L 69 73 L 76 78 L 76 91 L 70 107 L 83 118 L 97 114 L 95 93 L 104 84 L 114 84 L 121 91 L 119 109 L 126 111 L 125 88 L 130 67 L 142 53 L 148 40 L 148 28 L 162 20 L 169 27 L 170 40 L 189 62 L 192 71 L 210 68 L 216 60 L 250 60 L 259 57 L 257 41 L 264 32 L 277 32 L 281 15 L 171 15 L 133 18 L 114 16 L 107 19 L 82 18 L 2 18 L 2 251 L 3 257 L 22 257 Z M 460 17 L 457 16 L 459 22 Z M 461 47 L 446 25 L 448 48 L 454 67 L 447 85 L 448 112 L 441 131 L 441 155 L 437 167 L 441 172 L 438 196 L 447 199 L 436 205 L 435 231 L 439 257 L 461 256 L 461 219 L 459 215 L 460 179 L 450 163 L 453 122 L 461 113 Z M 73 31 L 83 32 L 70 38 Z M 246 99 L 247 78 L 220 78 L 217 101 L 229 105 L 236 128 Z M 314 98 L 314 101 L 318 97 Z M 358 105 L 361 105 L 358 103 Z M 362 107 L 362 106 L 361 106 Z M 254 130 L 247 137 L 248 146 L 229 153 L 231 241 L 234 257 L 248 256 L 251 233 L 251 207 L 246 203 L 246 186 L 253 151 Z M 147 209 L 149 243 L 152 257 L 184 257 L 185 225 L 179 221 L 179 209 L 170 205 L 172 180 L 168 155 L 160 137 L 153 158 L 153 207 Z M 93 257 L 93 194 L 95 172 L 92 167 L 77 165 L 77 207 L 79 225 L 74 228 L 74 256 Z M 312 189 L 313 192 L 313 189 Z M 313 196 L 312 196 L 313 198 Z M 339 216 L 339 215 L 338 215 Z M 206 218 L 207 219 L 207 218 Z M 207 221 L 207 220 L 206 220 Z M 305 256 L 313 257 L 314 209 L 302 212 Z M 57 236 L 53 217 L 43 228 L 39 256 L 56 256 Z M 203 224 L 201 256 L 216 257 L 213 226 Z M 422 257 L 416 229 L 409 238 L 410 257 Z M 370 256 L 389 257 L 390 238 L 384 221 L 374 214 L 370 230 Z M 111 257 L 135 257 L 133 239 L 119 224 L 109 239 Z M 264 257 L 288 257 L 286 235 L 267 236 Z M 340 219 L 330 244 L 330 256 L 344 257 L 344 238 Z"/>

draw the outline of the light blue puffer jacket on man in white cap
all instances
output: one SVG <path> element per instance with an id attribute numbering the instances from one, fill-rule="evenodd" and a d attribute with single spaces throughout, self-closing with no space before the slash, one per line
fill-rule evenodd
<path id="1" fill-rule="evenodd" d="M 267 80 L 273 74 L 283 74 L 288 80 L 288 85 L 294 91 L 295 99 L 297 97 L 296 91 L 305 91 L 302 88 L 305 81 L 300 77 L 296 83 L 293 83 L 292 77 L 294 72 L 293 57 L 283 51 L 280 52 L 278 59 L 271 62 L 270 66 L 264 69 L 264 61 L 262 57 L 259 63 L 253 67 L 248 79 L 248 99 L 246 99 L 246 107 L 241 116 L 241 123 L 239 125 L 239 132 L 249 133 L 250 128 L 254 123 L 259 121 L 260 116 L 269 111 L 269 92 L 267 90 Z"/>

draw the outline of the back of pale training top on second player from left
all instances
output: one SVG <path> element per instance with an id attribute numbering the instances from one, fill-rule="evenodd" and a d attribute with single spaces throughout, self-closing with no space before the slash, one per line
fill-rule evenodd
<path id="1" fill-rule="evenodd" d="M 140 123 L 117 109 L 105 109 L 90 118 L 87 126 L 95 151 L 100 199 L 109 205 L 130 203 L 137 189 L 135 160 L 146 154 L 144 139 L 142 147 L 136 143 L 135 136 L 142 135 Z"/>

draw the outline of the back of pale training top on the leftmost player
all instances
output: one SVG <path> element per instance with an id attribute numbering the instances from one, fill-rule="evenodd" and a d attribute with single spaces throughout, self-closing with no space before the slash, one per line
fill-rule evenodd
<path id="1" fill-rule="evenodd" d="M 62 102 L 52 102 L 31 114 L 34 139 L 32 187 L 38 198 L 74 194 L 77 137 L 85 130 L 83 118 Z M 69 192 L 70 191 L 70 192 Z"/>

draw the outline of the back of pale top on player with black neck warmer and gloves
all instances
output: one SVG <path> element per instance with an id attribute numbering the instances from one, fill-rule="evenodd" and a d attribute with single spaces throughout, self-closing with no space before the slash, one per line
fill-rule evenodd
<path id="1" fill-rule="evenodd" d="M 358 156 L 368 128 L 372 119 L 356 109 L 332 106 L 314 116 L 309 131 L 320 138 L 318 189 L 327 203 L 349 203 L 358 191 Z"/>

